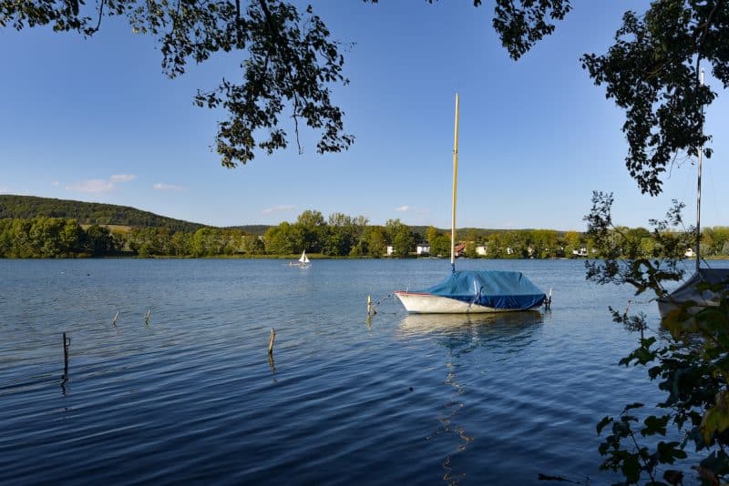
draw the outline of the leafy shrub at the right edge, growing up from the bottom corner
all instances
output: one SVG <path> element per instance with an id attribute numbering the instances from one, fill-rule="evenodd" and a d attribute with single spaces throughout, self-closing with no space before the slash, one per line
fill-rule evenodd
<path id="1" fill-rule="evenodd" d="M 682 248 L 696 237 L 694 228 L 666 231 L 682 225 L 683 205 L 674 202 L 665 219 L 652 221 L 653 248 L 663 253 L 643 258 L 639 242 L 646 230 L 615 227 L 611 204 L 611 195 L 595 193 L 586 218 L 602 258 L 588 262 L 588 278 L 629 284 L 636 295 L 665 297 L 665 283 L 683 275 Z M 615 322 L 641 334 L 639 347 L 621 365 L 644 367 L 665 392 L 664 400 L 649 409 L 655 411 L 631 403 L 619 417 L 606 416 L 597 426 L 598 434 L 607 430 L 600 446 L 601 467 L 621 472 L 628 484 L 681 484 L 691 471 L 688 465 L 694 481 L 718 485 L 729 480 L 729 290 L 721 284 L 709 288 L 720 296 L 718 306 L 694 312 L 692 302 L 683 303 L 662 321 L 662 329 L 649 329 L 642 313 L 611 309 Z M 686 452 L 689 447 L 696 451 L 692 456 Z M 682 467 L 677 461 L 683 461 Z"/>

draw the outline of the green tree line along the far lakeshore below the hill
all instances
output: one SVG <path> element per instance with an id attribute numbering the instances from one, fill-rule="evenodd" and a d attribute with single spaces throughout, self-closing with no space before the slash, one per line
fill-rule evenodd
<path id="1" fill-rule="evenodd" d="M 333 213 L 324 218 L 319 211 L 304 211 L 293 223 L 284 221 L 268 228 L 263 236 L 238 228 L 110 229 L 81 225 L 76 219 L 0 219 L 0 258 L 87 258 L 87 257 L 255 257 L 292 256 L 306 250 L 323 257 L 395 258 L 415 256 L 416 246 L 428 246 L 424 255 L 448 257 L 450 232 L 429 227 L 416 231 L 399 219 L 385 226 L 370 225 L 363 216 Z M 651 233 L 645 228 L 619 228 L 633 241 L 638 254 L 660 257 Z M 470 228 L 458 235 L 468 258 L 576 258 L 593 256 L 592 242 L 578 231 L 552 229 L 483 230 Z M 688 249 L 688 248 L 687 248 Z M 633 248 L 631 254 L 635 253 Z M 729 227 L 704 228 L 704 256 L 729 256 Z"/>

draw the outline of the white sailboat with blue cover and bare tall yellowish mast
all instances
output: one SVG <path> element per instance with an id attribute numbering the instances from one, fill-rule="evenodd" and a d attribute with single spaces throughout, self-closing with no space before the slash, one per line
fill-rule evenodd
<path id="1" fill-rule="evenodd" d="M 453 197 L 451 207 L 451 274 L 423 290 L 396 290 L 408 313 L 470 314 L 539 308 L 547 296 L 517 271 L 456 270 L 456 193 L 458 178 L 458 94 L 453 142 Z"/>

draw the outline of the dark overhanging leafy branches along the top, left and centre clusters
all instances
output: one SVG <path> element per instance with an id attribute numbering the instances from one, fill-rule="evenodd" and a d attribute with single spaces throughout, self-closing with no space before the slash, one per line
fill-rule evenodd
<path id="1" fill-rule="evenodd" d="M 473 5 L 480 4 L 473 0 Z M 516 59 L 554 30 L 549 20 L 569 11 L 569 0 L 496 0 L 493 25 Z M 354 137 L 344 132 L 344 112 L 330 96 L 332 86 L 348 83 L 342 74 L 341 44 L 331 39 L 311 5 L 283 0 L 101 0 L 96 5 L 83 0 L 0 1 L 0 26 L 16 30 L 50 25 L 58 32 L 90 36 L 105 17 L 122 15 L 133 32 L 157 39 L 169 77 L 184 74 L 190 61 L 202 63 L 219 52 L 237 54 L 241 79 L 222 79 L 219 86 L 195 96 L 198 106 L 220 107 L 228 114 L 215 143 L 223 166 L 245 164 L 256 149 L 271 154 L 287 147 L 290 129 L 301 152 L 299 128 L 304 124 L 319 132 L 319 153 L 338 152 L 353 143 Z M 293 118 L 293 127 L 283 124 L 284 111 Z"/>

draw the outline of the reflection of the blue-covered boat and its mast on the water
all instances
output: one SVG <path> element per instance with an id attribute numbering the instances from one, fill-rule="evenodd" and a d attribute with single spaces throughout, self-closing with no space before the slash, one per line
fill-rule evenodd
<path id="1" fill-rule="evenodd" d="M 494 345 L 503 348 L 503 341 L 509 341 L 509 352 L 517 352 L 533 342 L 534 329 L 542 324 L 541 312 L 500 312 L 494 314 L 409 314 L 400 321 L 399 331 L 403 339 L 422 336 L 434 338 L 447 349 L 446 385 L 452 388 L 449 400 L 442 407 L 438 417 L 440 427 L 426 440 L 450 435 L 457 439 L 457 446 L 441 461 L 443 481 L 458 484 L 467 477 L 467 471 L 454 471 L 454 455 L 467 450 L 474 439 L 457 422 L 458 413 L 466 407 L 464 395 L 466 386 L 457 378 L 460 359 L 463 355 L 483 346 Z"/>

